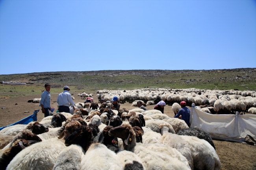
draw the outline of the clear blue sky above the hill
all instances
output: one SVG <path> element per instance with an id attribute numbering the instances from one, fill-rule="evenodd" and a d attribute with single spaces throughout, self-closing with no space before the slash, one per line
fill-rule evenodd
<path id="1" fill-rule="evenodd" d="M 255 0 L 1 0 L 0 74 L 256 68 Z"/>

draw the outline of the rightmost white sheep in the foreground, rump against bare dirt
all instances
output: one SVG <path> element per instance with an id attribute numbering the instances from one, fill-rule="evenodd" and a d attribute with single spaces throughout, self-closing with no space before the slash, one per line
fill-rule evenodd
<path id="1" fill-rule="evenodd" d="M 183 136 L 191 150 L 193 166 L 198 170 L 220 170 L 221 162 L 214 148 L 204 139 L 194 136 Z"/>

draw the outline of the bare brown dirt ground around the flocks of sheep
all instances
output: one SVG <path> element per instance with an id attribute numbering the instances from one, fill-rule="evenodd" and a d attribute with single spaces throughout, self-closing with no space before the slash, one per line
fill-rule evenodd
<path id="1" fill-rule="evenodd" d="M 73 92 L 71 92 L 73 93 Z M 77 94 L 80 91 L 74 92 L 75 100 L 74 102 L 83 102 Z M 51 107 L 57 108 L 57 93 L 51 94 Z M 7 126 L 14 122 L 17 122 L 29 115 L 33 114 L 34 110 L 39 110 L 39 103 L 28 103 L 28 100 L 34 98 L 41 98 L 41 95 L 28 95 L 22 97 L 13 98 L 1 98 L 0 99 L 0 127 Z M 96 93 L 94 93 L 93 98 L 98 101 Z M 15 105 L 17 103 L 17 105 Z M 128 110 L 135 108 L 132 104 L 126 102 L 121 104 L 120 108 L 126 108 Z M 147 109 L 153 109 L 154 105 L 147 106 Z M 24 113 L 29 111 L 29 113 Z M 56 112 L 56 110 L 54 111 Z M 165 106 L 165 114 L 169 117 L 174 117 L 174 113 L 171 106 Z M 44 114 L 38 112 L 37 119 L 41 121 Z M 213 140 L 216 152 L 221 161 L 222 170 L 256 170 L 256 146 L 250 146 L 249 144 L 236 143 L 230 141 Z"/>

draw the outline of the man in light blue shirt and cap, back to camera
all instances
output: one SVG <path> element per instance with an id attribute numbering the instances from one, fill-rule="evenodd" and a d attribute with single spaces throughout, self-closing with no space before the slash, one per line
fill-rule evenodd
<path id="1" fill-rule="evenodd" d="M 59 105 L 59 112 L 66 112 L 69 113 L 69 104 L 73 107 L 74 110 L 76 110 L 74 106 L 74 102 L 71 98 L 71 95 L 69 93 L 70 89 L 68 86 L 64 86 L 63 92 L 58 95 L 57 103 Z"/>

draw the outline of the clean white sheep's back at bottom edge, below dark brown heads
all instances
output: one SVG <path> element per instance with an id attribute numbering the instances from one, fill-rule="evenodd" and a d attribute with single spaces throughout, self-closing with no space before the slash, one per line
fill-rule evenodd
<path id="1" fill-rule="evenodd" d="M 97 158 L 97 159 L 95 159 Z M 80 169 L 86 170 L 122 170 L 122 163 L 115 152 L 100 143 L 93 143 L 85 153 Z"/>

